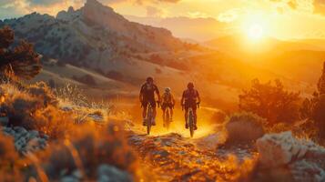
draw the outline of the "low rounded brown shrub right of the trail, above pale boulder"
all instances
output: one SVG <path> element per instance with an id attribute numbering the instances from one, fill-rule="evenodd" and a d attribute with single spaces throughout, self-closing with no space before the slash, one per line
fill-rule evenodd
<path id="1" fill-rule="evenodd" d="M 251 144 L 264 135 L 265 119 L 251 113 L 237 113 L 226 123 L 226 144 Z"/>

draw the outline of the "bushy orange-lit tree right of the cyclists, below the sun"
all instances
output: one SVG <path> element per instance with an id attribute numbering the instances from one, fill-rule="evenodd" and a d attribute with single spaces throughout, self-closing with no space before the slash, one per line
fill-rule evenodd
<path id="1" fill-rule="evenodd" d="M 295 121 L 299 118 L 300 93 L 286 91 L 278 79 L 274 83 L 253 80 L 251 88 L 239 95 L 239 108 L 266 118 L 269 125 Z"/>

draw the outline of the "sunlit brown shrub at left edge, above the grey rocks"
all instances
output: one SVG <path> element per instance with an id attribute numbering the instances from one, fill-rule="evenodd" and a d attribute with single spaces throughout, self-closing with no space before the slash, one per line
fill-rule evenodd
<path id="1" fill-rule="evenodd" d="M 52 138 L 65 137 L 73 127 L 73 115 L 57 107 L 56 96 L 44 82 L 28 86 L 25 91 L 11 85 L 0 88 L 5 93 L 1 108 L 8 116 L 9 126 L 36 129 Z"/>

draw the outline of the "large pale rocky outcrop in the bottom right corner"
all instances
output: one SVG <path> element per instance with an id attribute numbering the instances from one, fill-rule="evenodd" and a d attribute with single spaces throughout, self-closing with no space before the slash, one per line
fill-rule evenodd
<path id="1" fill-rule="evenodd" d="M 291 132 L 268 134 L 257 141 L 264 168 L 287 167 L 294 181 L 325 181 L 325 148 Z"/>

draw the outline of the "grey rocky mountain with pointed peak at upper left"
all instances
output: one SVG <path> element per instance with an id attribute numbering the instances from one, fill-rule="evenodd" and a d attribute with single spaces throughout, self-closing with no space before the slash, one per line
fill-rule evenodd
<path id="1" fill-rule="evenodd" d="M 35 43 L 40 54 L 75 64 L 184 47 L 168 30 L 129 22 L 96 0 L 56 17 L 33 13 L 0 22 L 3 25 L 14 28 L 17 38 Z"/>

